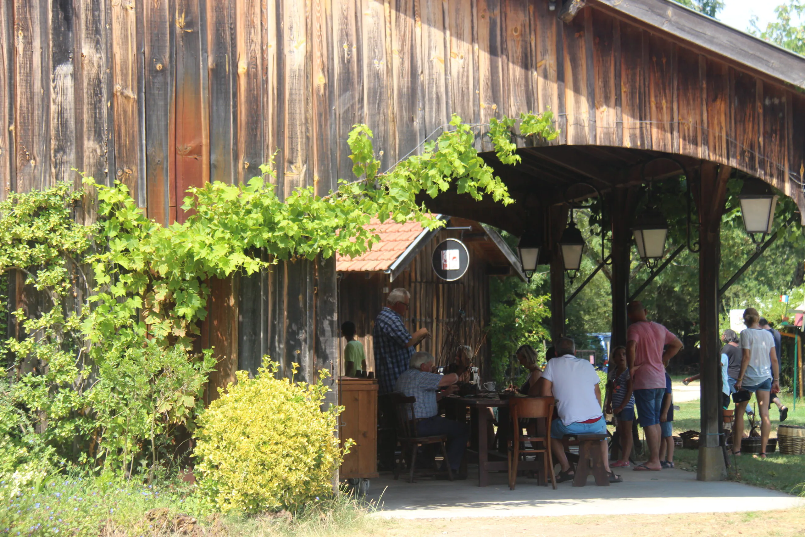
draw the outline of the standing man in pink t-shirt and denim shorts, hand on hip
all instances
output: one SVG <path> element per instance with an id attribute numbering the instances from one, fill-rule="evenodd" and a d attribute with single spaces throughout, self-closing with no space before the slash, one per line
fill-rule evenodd
<path id="1" fill-rule="evenodd" d="M 665 366 L 679 349 L 682 341 L 662 324 L 646 319 L 646 308 L 639 300 L 626 309 L 630 324 L 626 331 L 626 361 L 634 378 L 634 404 L 638 407 L 638 422 L 646 432 L 650 458 L 634 467 L 638 471 L 659 470 L 659 416 L 665 395 Z"/>

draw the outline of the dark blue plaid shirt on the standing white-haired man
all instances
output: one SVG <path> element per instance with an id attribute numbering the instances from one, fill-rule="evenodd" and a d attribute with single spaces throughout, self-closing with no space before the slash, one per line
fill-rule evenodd
<path id="1" fill-rule="evenodd" d="M 374 320 L 374 366 L 378 370 L 379 393 L 394 391 L 397 378 L 408 369 L 414 348 L 407 347 L 411 333 L 391 308 L 383 308 Z"/>

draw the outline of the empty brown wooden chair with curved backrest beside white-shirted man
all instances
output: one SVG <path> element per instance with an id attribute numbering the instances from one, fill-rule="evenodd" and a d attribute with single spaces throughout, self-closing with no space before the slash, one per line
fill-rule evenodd
<path id="1" fill-rule="evenodd" d="M 517 481 L 517 465 L 521 455 L 543 454 L 543 472 L 545 485 L 550 472 L 551 483 L 556 489 L 556 476 L 554 475 L 553 456 L 551 456 L 551 417 L 553 416 L 554 398 L 552 397 L 513 397 L 509 399 L 509 413 L 512 423 L 512 439 L 509 440 L 509 489 L 514 490 Z M 522 436 L 520 419 L 545 419 L 545 436 Z M 531 448 L 526 449 L 526 442 Z M 522 445 L 521 445 L 522 444 Z M 535 448 L 535 444 L 542 444 Z"/>

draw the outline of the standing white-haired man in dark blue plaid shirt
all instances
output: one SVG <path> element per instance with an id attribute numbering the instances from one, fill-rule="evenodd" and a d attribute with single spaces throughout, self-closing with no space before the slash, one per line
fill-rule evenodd
<path id="1" fill-rule="evenodd" d="M 374 366 L 378 376 L 378 412 L 381 430 L 378 434 L 380 465 L 394 468 L 394 407 L 389 394 L 397 378 L 408 369 L 414 347 L 428 336 L 427 328 L 419 328 L 413 336 L 408 332 L 403 315 L 411 303 L 411 293 L 403 287 L 392 290 L 386 297 L 386 307 L 378 313 L 372 331 Z"/>

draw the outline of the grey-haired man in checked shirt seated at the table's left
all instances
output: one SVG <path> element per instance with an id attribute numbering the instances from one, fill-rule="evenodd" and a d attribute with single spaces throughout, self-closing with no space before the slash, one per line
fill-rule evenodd
<path id="1" fill-rule="evenodd" d="M 394 391 L 401 392 L 407 397 L 415 397 L 414 420 L 418 436 L 447 435 L 448 459 L 456 479 L 466 479 L 466 474 L 458 473 L 461 457 L 469 439 L 469 427 L 466 423 L 459 423 L 452 419 L 438 415 L 436 405 L 436 390 L 440 387 L 452 386 L 458 381 L 455 373 L 440 375 L 431 373 L 435 368 L 436 360 L 430 353 L 420 351 L 411 357 L 409 369 L 399 376 Z"/>

